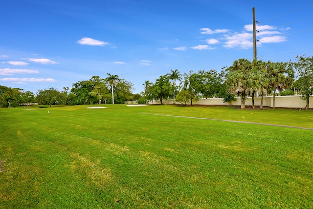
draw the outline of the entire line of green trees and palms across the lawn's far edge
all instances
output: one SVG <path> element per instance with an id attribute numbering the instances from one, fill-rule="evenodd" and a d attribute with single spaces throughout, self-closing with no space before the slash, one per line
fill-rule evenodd
<path id="1" fill-rule="evenodd" d="M 199 98 L 224 98 L 224 102 L 240 97 L 241 108 L 245 108 L 247 97 L 252 99 L 260 95 L 261 108 L 263 97 L 275 95 L 302 95 L 309 108 L 309 99 L 313 94 L 313 57 L 297 56 L 295 62 L 265 62 L 238 59 L 229 67 L 217 70 L 199 70 L 180 74 L 171 70 L 159 76 L 154 83 L 144 82 L 144 91 L 133 94 L 134 85 L 121 80 L 117 75 L 107 73 L 105 79 L 93 76 L 87 81 L 72 84 L 71 89 L 64 87 L 59 91 L 53 87 L 41 89 L 34 95 L 19 88 L 0 86 L 0 104 L 3 107 L 17 106 L 37 102 L 38 104 L 124 104 L 136 100 L 139 104 L 148 101 L 173 99 L 174 103 L 196 102 Z"/>

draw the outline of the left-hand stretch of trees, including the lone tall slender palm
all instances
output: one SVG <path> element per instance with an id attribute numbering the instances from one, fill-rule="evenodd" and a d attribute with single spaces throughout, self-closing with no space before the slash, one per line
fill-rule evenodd
<path id="1" fill-rule="evenodd" d="M 62 91 L 49 87 L 40 89 L 36 95 L 20 88 L 9 88 L 0 85 L 1 107 L 15 107 L 21 104 L 37 103 L 39 105 L 53 104 L 124 104 L 125 101 L 139 99 L 139 94 L 133 94 L 134 84 L 121 80 L 117 75 L 108 73 L 103 79 L 92 76 L 87 81 L 72 84 L 71 89 L 64 87 Z"/>

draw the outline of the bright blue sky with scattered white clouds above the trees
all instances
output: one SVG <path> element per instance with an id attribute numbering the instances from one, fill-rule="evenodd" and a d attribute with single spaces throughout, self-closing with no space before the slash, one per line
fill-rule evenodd
<path id="1" fill-rule="evenodd" d="M 257 56 L 313 56 L 312 0 L 1 0 L 0 85 L 34 93 L 92 76 L 144 81 Z"/>

